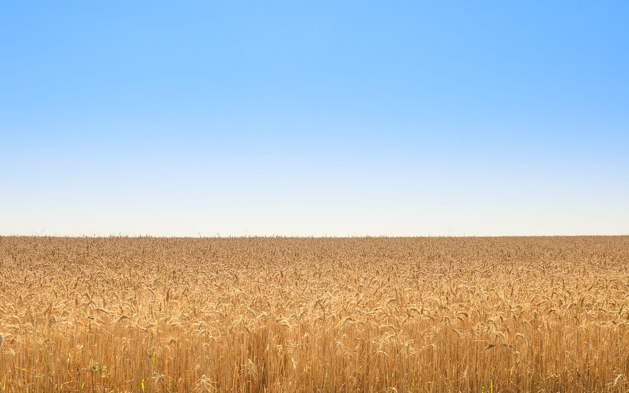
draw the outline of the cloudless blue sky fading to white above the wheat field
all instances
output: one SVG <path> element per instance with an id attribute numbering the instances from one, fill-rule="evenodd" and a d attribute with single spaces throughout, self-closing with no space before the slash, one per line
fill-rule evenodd
<path id="1" fill-rule="evenodd" d="M 0 54 L 0 234 L 629 234 L 627 1 L 3 1 Z"/>

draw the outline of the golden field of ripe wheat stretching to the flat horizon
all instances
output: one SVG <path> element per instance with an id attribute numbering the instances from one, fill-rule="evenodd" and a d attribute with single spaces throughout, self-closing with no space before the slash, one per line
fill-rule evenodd
<path id="1" fill-rule="evenodd" d="M 629 237 L 0 237 L 0 392 L 626 392 Z"/>

